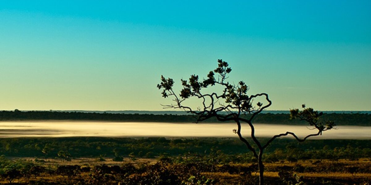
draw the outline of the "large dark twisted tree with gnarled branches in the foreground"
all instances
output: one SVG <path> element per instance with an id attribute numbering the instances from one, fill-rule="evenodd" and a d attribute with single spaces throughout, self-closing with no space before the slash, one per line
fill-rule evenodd
<path id="1" fill-rule="evenodd" d="M 218 67 L 210 71 L 207 74 L 207 78 L 200 80 L 198 75 L 191 75 L 189 81 L 181 79 L 183 88 L 180 90 L 180 94 L 176 94 L 173 90 L 174 80 L 172 78 L 165 78 L 161 75 L 161 83 L 157 84 L 157 88 L 162 90 L 162 97 L 173 97 L 174 104 L 163 105 L 164 108 L 178 108 L 192 113 L 196 117 L 196 122 L 204 121 L 209 118 L 216 118 L 219 121 L 234 121 L 237 124 L 237 129 L 233 129 L 233 132 L 238 135 L 239 139 L 246 145 L 246 147 L 253 152 L 254 157 L 257 159 L 259 166 L 259 184 L 264 184 L 263 173 L 264 165 L 262 162 L 264 149 L 272 143 L 276 138 L 292 135 L 299 142 L 303 142 L 309 137 L 321 135 L 322 132 L 332 129 L 334 122 L 319 121 L 319 117 L 322 112 L 314 111 L 312 108 L 305 108 L 299 111 L 298 109 L 290 110 L 290 117 L 292 119 L 299 118 L 309 123 L 318 132 L 315 134 L 307 135 L 304 138 L 299 138 L 293 132 L 285 132 L 282 134 L 274 135 L 265 144 L 261 143 L 255 136 L 255 127 L 253 125 L 253 119 L 260 112 L 272 105 L 268 94 L 247 94 L 249 86 L 243 81 L 236 84 L 227 82 L 228 74 L 232 71 L 228 67 L 228 63 L 223 60 L 218 60 Z M 216 77 L 217 75 L 217 77 Z M 208 89 L 212 86 L 219 87 L 220 92 L 205 93 L 204 89 Z M 215 88 L 213 88 L 214 91 Z M 201 101 L 201 105 L 198 108 L 193 108 L 184 105 L 184 101 L 190 98 L 198 98 Z M 253 105 L 253 101 L 256 99 L 263 99 L 265 102 L 257 102 Z M 250 127 L 250 137 L 252 143 L 247 141 L 241 134 L 241 124 L 245 123 Z M 254 144 L 254 145 L 253 145 Z"/>

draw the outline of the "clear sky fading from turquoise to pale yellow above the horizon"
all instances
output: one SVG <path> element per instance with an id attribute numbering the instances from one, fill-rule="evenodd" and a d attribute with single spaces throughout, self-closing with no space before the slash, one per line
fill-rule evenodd
<path id="1" fill-rule="evenodd" d="M 370 111 L 371 1 L 0 1 L 0 110 L 162 110 L 218 59 L 269 110 Z"/>

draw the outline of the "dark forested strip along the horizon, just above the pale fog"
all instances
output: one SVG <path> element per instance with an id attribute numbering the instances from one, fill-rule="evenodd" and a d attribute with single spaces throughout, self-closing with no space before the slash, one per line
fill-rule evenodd
<path id="1" fill-rule="evenodd" d="M 249 118 L 250 115 L 245 115 Z M 324 113 L 321 117 L 323 121 L 334 121 L 336 125 L 358 125 L 371 126 L 371 114 L 339 114 Z M 60 112 L 60 111 L 0 111 L 0 121 L 27 121 L 27 120 L 86 120 L 86 121 L 122 121 L 122 122 L 195 122 L 194 115 L 174 115 L 174 114 L 113 114 L 97 112 Z M 210 118 L 203 122 L 219 122 L 216 118 Z M 266 124 L 287 124 L 298 125 L 306 124 L 300 120 L 290 120 L 289 114 L 261 113 L 257 115 L 254 123 Z"/>

